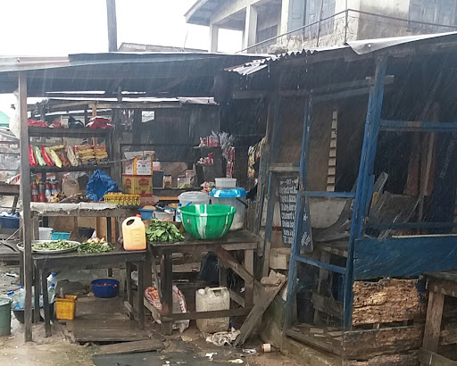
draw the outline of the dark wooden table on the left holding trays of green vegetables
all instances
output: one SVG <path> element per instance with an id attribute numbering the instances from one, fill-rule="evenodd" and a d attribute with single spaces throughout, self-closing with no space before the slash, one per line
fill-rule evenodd
<path id="1" fill-rule="evenodd" d="M 143 294 L 145 293 L 145 287 L 151 286 L 151 259 L 149 256 L 149 252 L 147 250 L 128 252 L 118 246 L 114 250 L 104 253 L 79 254 L 78 251 L 62 254 L 32 253 L 32 258 L 35 265 L 34 317 L 36 320 L 39 320 L 39 289 L 40 287 L 42 287 L 46 337 L 51 336 L 51 314 L 49 312 L 49 299 L 47 294 L 47 276 L 52 271 L 72 269 L 87 270 L 94 268 L 117 268 L 124 264 L 126 267 L 128 299 L 128 301 L 125 302 L 124 305 L 129 311 L 130 320 L 134 320 L 135 315 L 137 315 L 139 328 L 145 329 L 145 307 L 143 305 Z M 132 293 L 131 273 L 133 265 L 137 266 L 138 270 L 137 311 L 134 309 Z"/>

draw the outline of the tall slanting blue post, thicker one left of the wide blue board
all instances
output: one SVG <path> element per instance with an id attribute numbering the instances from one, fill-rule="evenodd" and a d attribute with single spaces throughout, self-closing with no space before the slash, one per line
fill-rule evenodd
<path id="1" fill-rule="evenodd" d="M 378 145 L 379 122 L 381 117 L 382 102 L 384 96 L 384 84 L 386 79 L 386 58 L 380 59 L 376 65 L 375 84 L 370 90 L 367 109 L 365 133 L 361 148 L 361 161 L 359 176 L 353 204 L 353 218 L 351 220 L 351 235 L 349 238 L 348 255 L 345 275 L 344 317 L 343 327 L 351 328 L 353 315 L 353 254 L 355 240 L 363 234 L 363 220 L 367 199 L 372 195 L 370 184 L 373 172 L 376 147 Z M 370 190 L 371 187 L 371 190 Z"/>

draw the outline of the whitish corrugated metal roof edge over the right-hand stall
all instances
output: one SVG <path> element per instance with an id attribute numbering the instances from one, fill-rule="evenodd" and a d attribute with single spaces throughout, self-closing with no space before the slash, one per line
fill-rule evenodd
<path id="1" fill-rule="evenodd" d="M 433 38 L 440 38 L 445 40 L 449 38 L 449 41 L 457 42 L 457 32 L 439 33 L 439 34 L 428 34 L 420 36 L 408 36 L 408 37 L 388 37 L 378 39 L 363 39 L 358 41 L 348 42 L 345 46 L 328 46 L 318 48 L 306 48 L 301 51 L 289 51 L 286 54 L 269 55 L 262 59 L 254 60 L 252 62 L 246 62 L 244 65 L 230 67 L 225 69 L 226 71 L 237 72 L 240 75 L 247 76 L 257 71 L 265 69 L 270 62 L 285 61 L 290 57 L 300 57 L 312 54 L 320 53 L 335 53 L 343 49 L 352 49 L 354 54 L 370 54 L 382 49 L 386 49 L 394 46 L 402 46 L 411 44 L 413 42 L 425 41 Z"/>

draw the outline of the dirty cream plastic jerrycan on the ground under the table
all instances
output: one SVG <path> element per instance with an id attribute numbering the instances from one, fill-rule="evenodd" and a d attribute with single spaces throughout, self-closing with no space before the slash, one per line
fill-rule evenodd
<path id="1" fill-rule="evenodd" d="M 230 293 L 227 287 L 206 287 L 195 292 L 195 310 L 211 312 L 230 309 Z M 228 330 L 230 318 L 197 319 L 196 326 L 204 333 Z"/>

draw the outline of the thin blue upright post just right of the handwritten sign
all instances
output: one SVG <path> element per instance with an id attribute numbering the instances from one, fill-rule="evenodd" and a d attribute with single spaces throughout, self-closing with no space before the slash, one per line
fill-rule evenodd
<path id="1" fill-rule="evenodd" d="M 305 204 L 305 196 L 303 195 L 306 189 L 306 178 L 308 176 L 308 154 L 310 149 L 310 128 L 312 116 L 312 95 L 306 97 L 304 101 L 303 112 L 303 136 L 302 136 L 302 151 L 300 155 L 300 189 L 297 192 L 296 208 L 295 208 L 295 229 L 294 229 L 294 245 L 290 251 L 289 273 L 287 278 L 287 302 L 284 312 L 284 330 L 290 329 L 292 325 L 292 309 L 295 301 L 295 290 L 297 285 L 296 280 L 296 263 L 300 257 L 300 223 L 303 221 L 303 207 Z"/>

